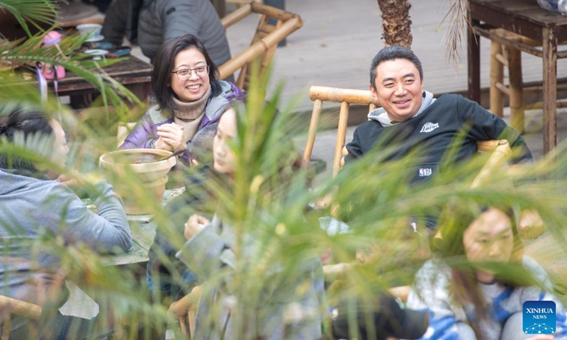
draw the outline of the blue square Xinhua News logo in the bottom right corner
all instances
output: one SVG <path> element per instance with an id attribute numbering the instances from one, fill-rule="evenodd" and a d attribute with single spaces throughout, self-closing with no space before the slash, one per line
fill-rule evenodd
<path id="1" fill-rule="evenodd" d="M 555 302 L 526 301 L 522 310 L 525 334 L 555 333 Z"/>

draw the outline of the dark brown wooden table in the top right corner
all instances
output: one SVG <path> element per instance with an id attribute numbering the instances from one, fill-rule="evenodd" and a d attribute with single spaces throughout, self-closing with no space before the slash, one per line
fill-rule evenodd
<path id="1" fill-rule="evenodd" d="M 557 50 L 567 40 L 567 17 L 541 9 L 536 0 L 468 0 L 468 98 L 481 100 L 480 35 L 543 59 L 544 153 L 557 144 L 557 59 L 567 57 Z M 504 28 L 541 42 L 539 50 L 490 32 Z"/>

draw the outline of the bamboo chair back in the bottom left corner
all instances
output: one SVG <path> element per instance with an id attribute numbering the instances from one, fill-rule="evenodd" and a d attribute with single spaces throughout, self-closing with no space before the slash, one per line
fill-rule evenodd
<path id="1" fill-rule="evenodd" d="M 27 319 L 37 321 L 41 316 L 41 307 L 30 302 L 16 300 L 11 297 L 0 295 L 0 316 L 4 320 L 2 325 L 2 334 L 0 336 L 1 340 L 10 339 L 10 331 L 12 330 L 11 318 L 13 315 L 18 315 L 20 317 L 26 317 Z M 37 336 L 37 329 L 33 329 L 33 325 L 30 325 L 30 339 Z"/>

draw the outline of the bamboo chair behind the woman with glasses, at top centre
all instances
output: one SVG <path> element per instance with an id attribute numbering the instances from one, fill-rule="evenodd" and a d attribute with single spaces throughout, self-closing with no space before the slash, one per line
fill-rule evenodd
<path id="1" fill-rule="evenodd" d="M 232 57 L 218 68 L 220 79 L 226 79 L 240 69 L 236 86 L 242 90 L 248 89 L 251 71 L 250 63 L 259 59 L 259 76 L 263 77 L 269 67 L 271 58 L 276 52 L 278 42 L 303 26 L 301 17 L 297 14 L 266 6 L 257 1 L 249 1 L 247 4 L 240 6 L 236 11 L 221 19 L 221 22 L 227 29 L 252 13 L 259 14 L 259 23 L 252 38 L 252 43 L 246 50 Z M 270 19 L 276 21 L 276 23 L 272 24 Z"/>

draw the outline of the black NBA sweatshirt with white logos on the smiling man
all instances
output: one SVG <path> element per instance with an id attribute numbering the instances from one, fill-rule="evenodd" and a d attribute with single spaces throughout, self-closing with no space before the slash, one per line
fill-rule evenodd
<path id="1" fill-rule="evenodd" d="M 378 108 L 376 110 L 382 110 Z M 374 113 L 374 111 L 373 111 Z M 375 113 L 370 113 L 372 119 Z M 359 125 L 352 142 L 347 145 L 349 154 L 345 161 L 362 157 L 373 147 L 380 149 L 395 146 L 387 160 L 400 159 L 410 152 L 417 152 L 412 162 L 415 178 L 427 178 L 439 171 L 439 163 L 459 134 L 461 144 L 456 147 L 454 162 L 461 162 L 476 154 L 476 142 L 505 139 L 510 147 L 521 148 L 522 156 L 513 162 L 532 160 L 532 153 L 520 133 L 474 101 L 456 94 L 445 94 L 434 101 L 420 115 L 405 122 L 382 126 L 376 120 Z M 441 169 L 442 170 L 442 169 Z"/>

